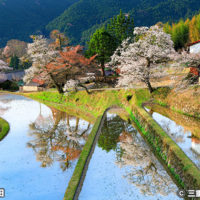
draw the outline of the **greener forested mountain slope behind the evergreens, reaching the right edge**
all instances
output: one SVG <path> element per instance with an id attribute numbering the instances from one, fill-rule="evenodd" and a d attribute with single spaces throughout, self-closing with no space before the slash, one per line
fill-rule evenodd
<path id="1" fill-rule="evenodd" d="M 101 23 L 124 13 L 134 16 L 136 26 L 191 17 L 200 9 L 199 0 L 79 0 L 47 25 L 47 30 L 65 32 L 72 43 L 85 43 Z"/>

